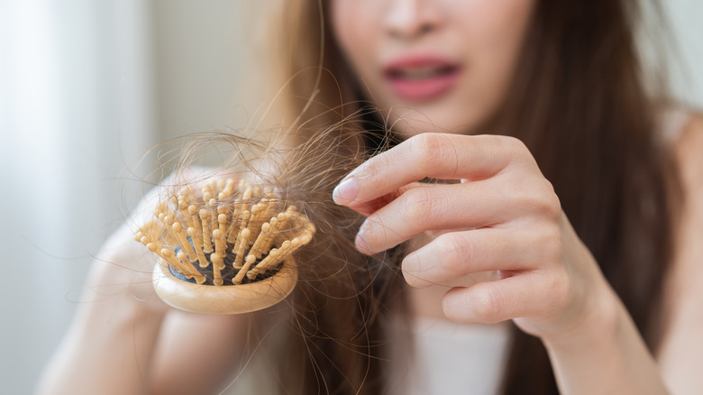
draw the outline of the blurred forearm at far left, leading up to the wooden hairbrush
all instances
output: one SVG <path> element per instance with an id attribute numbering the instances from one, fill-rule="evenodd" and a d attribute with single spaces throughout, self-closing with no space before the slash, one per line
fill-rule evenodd
<path id="1" fill-rule="evenodd" d="M 148 392 L 151 355 L 166 309 L 147 295 L 153 293 L 149 273 L 126 267 L 141 252 L 117 247 L 108 250 L 117 253 L 104 253 L 94 264 L 39 394 Z"/>

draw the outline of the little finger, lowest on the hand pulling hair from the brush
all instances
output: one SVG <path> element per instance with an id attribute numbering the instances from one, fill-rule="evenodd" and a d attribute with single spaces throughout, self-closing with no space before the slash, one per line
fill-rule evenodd
<path id="1" fill-rule="evenodd" d="M 503 280 L 452 288 L 443 297 L 444 315 L 456 322 L 494 324 L 531 317 L 549 320 L 567 301 L 569 284 L 554 273 L 526 272 Z"/>

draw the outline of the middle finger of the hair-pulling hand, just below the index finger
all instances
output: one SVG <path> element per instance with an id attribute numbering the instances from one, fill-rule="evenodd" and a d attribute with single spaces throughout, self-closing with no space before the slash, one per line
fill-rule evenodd
<path id="1" fill-rule="evenodd" d="M 534 194 L 511 194 L 502 181 L 486 179 L 465 184 L 409 188 L 372 213 L 357 234 L 362 253 L 379 253 L 437 229 L 471 229 L 504 225 L 545 204 Z"/>

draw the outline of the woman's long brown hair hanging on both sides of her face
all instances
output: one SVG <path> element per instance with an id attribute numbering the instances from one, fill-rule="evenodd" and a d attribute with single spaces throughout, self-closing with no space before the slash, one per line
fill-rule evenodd
<path id="1" fill-rule="evenodd" d="M 482 132 L 525 142 L 656 350 L 678 183 L 658 139 L 660 103 L 647 93 L 637 49 L 641 4 L 542 0 L 535 6 L 507 103 Z M 388 134 L 382 117 L 362 105 L 361 88 L 325 24 L 325 3 L 291 0 L 279 11 L 284 40 L 271 51 L 285 77 L 277 83 L 286 86 L 287 122 L 301 144 L 281 167 L 287 171 L 280 182 L 315 194 L 308 201 L 320 207 L 310 214 L 323 231 L 301 259 L 309 271 L 301 273 L 291 302 L 278 380 L 284 392 L 379 393 L 388 372 L 384 317 L 406 309 L 397 274 L 402 248 L 372 258 L 355 253 L 360 218 L 329 197 L 346 171 L 390 143 L 370 138 L 376 135 L 370 131 Z M 514 330 L 502 390 L 557 393 L 539 339 Z"/>

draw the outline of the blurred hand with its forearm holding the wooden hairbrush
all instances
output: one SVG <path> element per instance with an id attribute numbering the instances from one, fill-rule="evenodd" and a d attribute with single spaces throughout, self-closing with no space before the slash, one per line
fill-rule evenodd
<path id="1" fill-rule="evenodd" d="M 151 221 L 167 191 L 212 176 L 212 170 L 187 169 L 169 177 L 108 239 L 38 394 L 215 393 L 232 373 L 243 354 L 240 339 L 246 339 L 233 334 L 246 333 L 248 318 L 169 308 L 151 284 L 156 258 L 134 241 L 134 232 Z M 204 338 L 220 341 L 203 343 Z M 180 368 L 187 364 L 195 367 L 184 375 Z"/>

